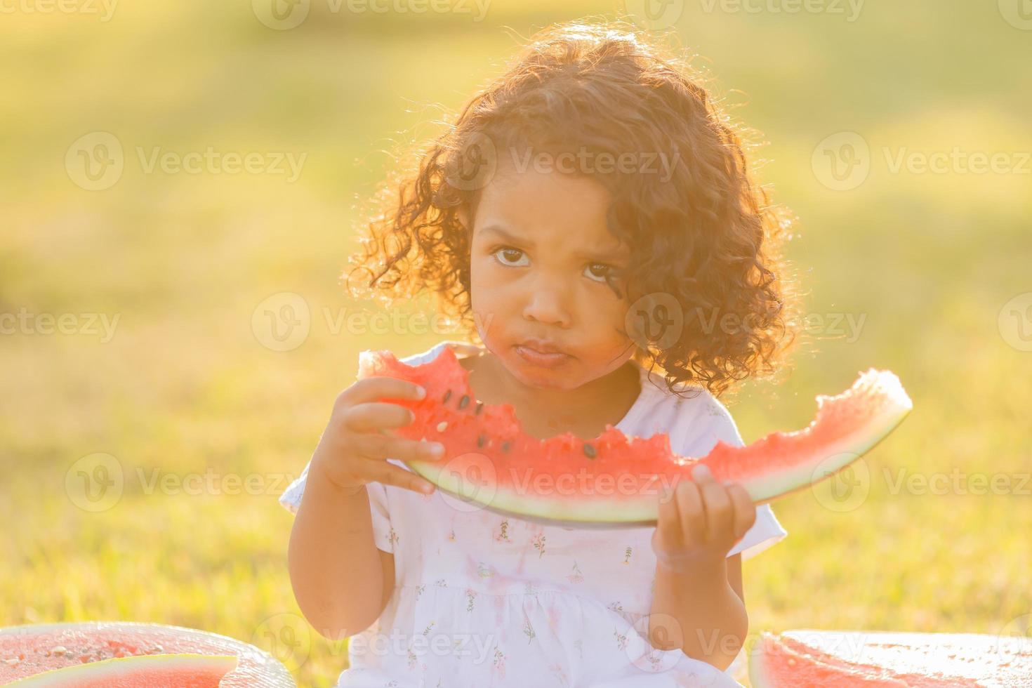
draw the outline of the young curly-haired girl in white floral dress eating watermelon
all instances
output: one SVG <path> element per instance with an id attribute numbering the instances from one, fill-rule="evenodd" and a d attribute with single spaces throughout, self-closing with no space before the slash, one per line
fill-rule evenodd
<path id="1" fill-rule="evenodd" d="M 674 64 L 623 25 L 547 29 L 401 175 L 358 267 L 394 299 L 433 292 L 479 341 L 404 361 L 450 347 L 475 400 L 538 437 L 612 424 L 686 456 L 743 445 L 716 397 L 793 338 L 788 222 Z M 384 399 L 421 393 L 344 390 L 281 497 L 301 611 L 351 636 L 337 686 L 739 685 L 741 561 L 786 535 L 769 505 L 697 470 L 657 494 L 655 526 L 474 509 L 404 463 L 449 458 L 390 431 L 412 416 Z"/>

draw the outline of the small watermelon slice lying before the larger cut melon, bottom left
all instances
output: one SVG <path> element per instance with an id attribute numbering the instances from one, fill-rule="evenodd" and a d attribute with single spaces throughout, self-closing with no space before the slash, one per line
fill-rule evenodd
<path id="1" fill-rule="evenodd" d="M 233 655 L 140 655 L 43 671 L 15 688 L 219 688 Z"/>

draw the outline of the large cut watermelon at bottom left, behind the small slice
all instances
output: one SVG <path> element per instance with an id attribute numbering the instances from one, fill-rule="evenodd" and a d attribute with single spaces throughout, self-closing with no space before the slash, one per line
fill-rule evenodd
<path id="1" fill-rule="evenodd" d="M 89 621 L 0 628 L 0 685 L 64 666 L 159 654 L 234 655 L 224 688 L 289 688 L 290 671 L 253 645 L 194 628 Z"/>

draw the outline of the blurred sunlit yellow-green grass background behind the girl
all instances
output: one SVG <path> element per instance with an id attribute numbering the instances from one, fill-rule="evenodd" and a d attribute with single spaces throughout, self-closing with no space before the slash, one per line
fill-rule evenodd
<path id="1" fill-rule="evenodd" d="M 847 490 L 775 504 L 750 630 L 1029 633 L 1028 0 L 0 11 L 0 625 L 181 624 L 332 685 L 346 644 L 299 615 L 277 496 L 359 351 L 461 336 L 345 297 L 361 204 L 536 30 L 625 17 L 762 132 L 800 219 L 815 346 L 723 397 L 746 441 L 870 366 L 914 401 Z"/>

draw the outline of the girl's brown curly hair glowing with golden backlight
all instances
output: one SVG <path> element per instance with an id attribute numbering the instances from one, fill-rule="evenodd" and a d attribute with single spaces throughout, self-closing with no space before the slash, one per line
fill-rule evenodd
<path id="1" fill-rule="evenodd" d="M 592 173 L 610 192 L 610 233 L 631 248 L 620 275 L 627 297 L 670 295 L 684 315 L 673 342 L 634 337 L 634 357 L 660 367 L 674 394 L 702 386 L 720 396 L 735 381 L 776 373 L 798 334 L 798 295 L 780 255 L 794 219 L 753 178 L 743 143 L 751 130 L 732 122 L 702 83 L 687 61 L 622 21 L 542 30 L 454 123 L 444 123 L 417 165 L 396 170 L 374 197 L 377 212 L 344 275 L 348 289 L 364 270 L 356 295 L 393 303 L 430 292 L 441 313 L 479 340 L 472 227 L 462 217 L 476 216 L 485 185 L 457 172 L 472 153 L 483 163 L 485 142 L 614 157 L 667 152 L 682 162 L 663 183 L 640 171 Z M 740 326 L 716 326 L 729 315 Z"/>

